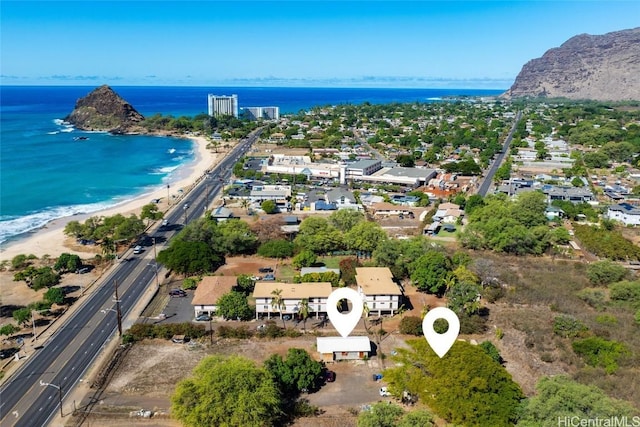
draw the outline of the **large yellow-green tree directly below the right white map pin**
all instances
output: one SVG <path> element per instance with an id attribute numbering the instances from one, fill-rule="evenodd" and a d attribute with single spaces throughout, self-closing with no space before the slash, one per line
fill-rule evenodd
<path id="1" fill-rule="evenodd" d="M 465 426 L 512 426 L 524 398 L 511 375 L 478 346 L 456 341 L 438 357 L 424 339 L 392 356 L 384 371 L 389 390 L 418 396 L 446 421 Z"/>

